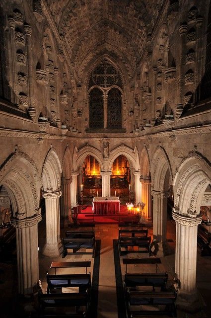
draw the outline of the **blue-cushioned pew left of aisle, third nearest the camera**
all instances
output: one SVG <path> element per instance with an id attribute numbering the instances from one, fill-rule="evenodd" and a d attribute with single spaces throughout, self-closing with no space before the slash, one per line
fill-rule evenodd
<path id="1" fill-rule="evenodd" d="M 92 254 L 92 257 L 94 257 L 95 237 L 63 238 L 62 244 L 63 244 L 63 256 L 62 256 L 63 258 L 67 254 Z M 92 251 L 91 252 L 81 251 L 80 250 L 81 248 L 91 249 Z M 72 249 L 72 251 L 71 252 L 68 251 L 69 249 Z"/>

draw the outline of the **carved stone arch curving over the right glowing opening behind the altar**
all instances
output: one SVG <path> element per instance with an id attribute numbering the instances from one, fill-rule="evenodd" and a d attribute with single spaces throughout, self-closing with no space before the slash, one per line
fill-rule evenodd
<path id="1" fill-rule="evenodd" d="M 110 152 L 109 161 L 108 161 L 109 171 L 111 171 L 114 160 L 120 155 L 124 155 L 129 160 L 130 166 L 134 168 L 135 171 L 138 171 L 140 169 L 139 152 L 137 147 L 135 147 L 135 149 L 133 150 L 132 148 L 128 146 L 121 145 Z"/>

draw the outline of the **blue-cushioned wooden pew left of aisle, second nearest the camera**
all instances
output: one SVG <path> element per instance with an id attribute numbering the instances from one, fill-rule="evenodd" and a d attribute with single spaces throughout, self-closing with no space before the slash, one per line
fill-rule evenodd
<path id="1" fill-rule="evenodd" d="M 47 294 L 62 292 L 62 288 L 78 287 L 80 292 L 90 292 L 91 290 L 91 274 L 59 274 L 46 275 Z"/>

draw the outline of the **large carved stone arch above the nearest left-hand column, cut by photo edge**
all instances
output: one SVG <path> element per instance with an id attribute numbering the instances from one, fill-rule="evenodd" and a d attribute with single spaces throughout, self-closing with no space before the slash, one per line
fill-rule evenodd
<path id="1" fill-rule="evenodd" d="M 13 216 L 31 217 L 39 213 L 40 180 L 34 161 L 15 150 L 0 169 L 0 184 L 6 188 Z"/>

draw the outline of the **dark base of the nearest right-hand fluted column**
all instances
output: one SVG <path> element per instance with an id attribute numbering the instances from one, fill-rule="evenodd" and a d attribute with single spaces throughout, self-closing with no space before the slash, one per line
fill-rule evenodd
<path id="1" fill-rule="evenodd" d="M 179 310 L 190 314 L 198 313 L 203 309 L 203 299 L 198 290 L 188 293 L 179 289 L 176 304 Z"/>

